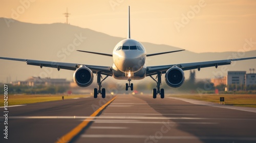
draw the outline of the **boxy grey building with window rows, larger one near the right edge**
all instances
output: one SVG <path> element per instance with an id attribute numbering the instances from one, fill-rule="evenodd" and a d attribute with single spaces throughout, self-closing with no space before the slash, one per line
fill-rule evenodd
<path id="1" fill-rule="evenodd" d="M 227 85 L 238 84 L 245 85 L 246 71 L 228 71 Z"/>

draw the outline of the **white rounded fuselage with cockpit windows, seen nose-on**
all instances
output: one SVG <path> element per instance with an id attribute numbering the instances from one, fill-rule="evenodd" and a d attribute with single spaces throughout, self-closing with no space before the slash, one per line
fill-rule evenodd
<path id="1" fill-rule="evenodd" d="M 113 50 L 113 77 L 115 79 L 143 79 L 146 74 L 146 50 L 133 39 L 124 39 Z"/>

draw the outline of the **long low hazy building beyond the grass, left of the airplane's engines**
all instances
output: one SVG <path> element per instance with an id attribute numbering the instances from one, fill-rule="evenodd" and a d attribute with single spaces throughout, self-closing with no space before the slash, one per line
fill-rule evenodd
<path id="1" fill-rule="evenodd" d="M 35 85 L 47 85 L 47 86 L 70 86 L 70 82 L 66 79 L 51 79 L 40 77 L 30 77 L 26 81 L 15 81 L 12 82 L 13 85 L 26 85 L 26 86 L 35 86 Z"/>

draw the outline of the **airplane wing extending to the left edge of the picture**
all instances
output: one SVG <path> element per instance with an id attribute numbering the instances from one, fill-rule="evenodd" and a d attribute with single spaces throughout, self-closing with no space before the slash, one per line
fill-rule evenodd
<path id="1" fill-rule="evenodd" d="M 78 67 L 84 64 L 77 64 L 77 63 L 64 63 L 64 62 L 55 62 L 55 61 L 39 61 L 39 60 L 29 60 L 29 59 L 17 59 L 17 58 L 7 58 L 7 57 L 0 57 L 0 59 L 4 60 L 13 60 L 13 61 L 23 61 L 26 62 L 28 65 L 36 65 L 42 67 L 52 67 L 59 69 L 68 69 L 68 70 L 76 70 Z M 110 66 L 97 66 L 97 65 L 85 65 L 86 67 L 90 68 L 94 74 L 98 71 L 101 71 L 102 75 L 112 76 L 112 70 Z"/>

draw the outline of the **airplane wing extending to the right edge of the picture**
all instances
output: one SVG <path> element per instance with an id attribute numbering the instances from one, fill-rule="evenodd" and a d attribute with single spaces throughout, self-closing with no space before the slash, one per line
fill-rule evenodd
<path id="1" fill-rule="evenodd" d="M 158 72 L 165 74 L 166 71 L 176 65 L 180 67 L 182 70 L 190 70 L 190 69 L 198 69 L 204 67 L 215 66 L 216 68 L 219 65 L 227 65 L 231 64 L 232 61 L 241 61 L 241 60 L 249 60 L 256 59 L 256 57 L 248 57 L 248 58 L 238 58 L 238 59 L 228 59 L 228 60 L 217 60 L 217 61 L 205 61 L 205 62 L 193 62 L 193 63 L 181 63 L 181 64 L 171 64 L 171 65 L 160 65 L 160 66 L 148 66 L 146 76 L 156 75 Z"/>

